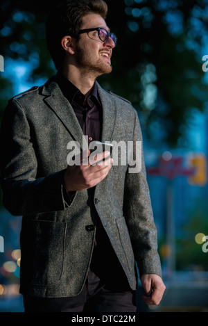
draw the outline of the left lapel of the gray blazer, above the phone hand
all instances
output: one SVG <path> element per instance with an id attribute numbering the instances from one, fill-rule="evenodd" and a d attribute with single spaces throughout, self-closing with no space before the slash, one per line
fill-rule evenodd
<path id="1" fill-rule="evenodd" d="M 42 94 L 47 95 L 44 98 L 44 102 L 53 110 L 62 124 L 64 124 L 64 127 L 70 133 L 73 140 L 79 142 L 83 150 L 87 149 L 87 140 L 83 137 L 83 130 L 80 127 L 76 114 L 69 101 L 62 95 L 62 91 L 53 77 L 44 85 Z"/>

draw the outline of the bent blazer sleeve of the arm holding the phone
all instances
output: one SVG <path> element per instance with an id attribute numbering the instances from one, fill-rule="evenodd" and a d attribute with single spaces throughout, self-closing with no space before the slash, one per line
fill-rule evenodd
<path id="1" fill-rule="evenodd" d="M 18 101 L 10 100 L 3 113 L 0 135 L 3 204 L 12 215 L 62 211 L 75 196 L 64 190 L 64 171 L 37 178 L 37 158 L 30 124 Z"/>

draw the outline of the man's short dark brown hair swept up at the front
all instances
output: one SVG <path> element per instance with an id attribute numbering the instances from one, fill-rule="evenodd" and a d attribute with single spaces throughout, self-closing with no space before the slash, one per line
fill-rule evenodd
<path id="1" fill-rule="evenodd" d="M 107 16 L 107 3 L 103 0 L 64 1 L 49 15 L 46 22 L 46 42 L 56 69 L 62 66 L 65 51 L 60 40 L 64 35 L 77 35 L 83 26 L 83 17 L 89 13 Z"/>

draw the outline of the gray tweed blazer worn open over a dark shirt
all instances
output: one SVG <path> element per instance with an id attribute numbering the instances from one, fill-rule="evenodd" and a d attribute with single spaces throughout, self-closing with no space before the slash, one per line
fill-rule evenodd
<path id="1" fill-rule="evenodd" d="M 102 141 L 142 140 L 132 105 L 98 85 L 103 106 Z M 23 215 L 20 235 L 20 292 L 47 298 L 78 295 L 92 257 L 96 227 L 87 190 L 73 200 L 64 196 L 67 143 L 82 147 L 83 131 L 55 76 L 42 87 L 13 97 L 1 124 L 3 203 L 12 215 Z M 114 165 L 95 187 L 95 208 L 133 290 L 139 275 L 161 276 L 157 231 L 141 171 Z"/>

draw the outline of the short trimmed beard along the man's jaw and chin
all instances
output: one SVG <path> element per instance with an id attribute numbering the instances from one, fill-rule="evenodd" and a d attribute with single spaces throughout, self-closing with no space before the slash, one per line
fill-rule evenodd
<path id="1" fill-rule="evenodd" d="M 102 59 L 95 62 L 84 49 L 79 47 L 79 44 L 77 44 L 76 55 L 78 65 L 84 74 L 91 74 L 97 77 L 112 72 L 112 65 L 103 63 Z"/>

